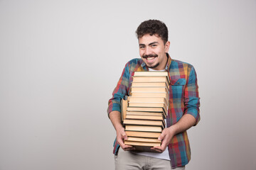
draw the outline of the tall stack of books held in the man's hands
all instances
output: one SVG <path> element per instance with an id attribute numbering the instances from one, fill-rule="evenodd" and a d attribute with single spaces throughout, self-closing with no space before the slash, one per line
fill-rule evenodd
<path id="1" fill-rule="evenodd" d="M 122 101 L 122 120 L 128 139 L 125 145 L 151 152 L 161 146 L 158 140 L 166 127 L 169 105 L 168 72 L 134 72 L 132 89 L 127 101 Z"/>

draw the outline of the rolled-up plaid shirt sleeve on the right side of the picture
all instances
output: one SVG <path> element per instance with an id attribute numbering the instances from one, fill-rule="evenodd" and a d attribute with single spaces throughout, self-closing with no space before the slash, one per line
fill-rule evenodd
<path id="1" fill-rule="evenodd" d="M 188 84 L 186 85 L 184 89 L 184 115 L 190 114 L 193 115 L 194 118 L 196 118 L 196 124 L 198 124 L 200 120 L 200 101 L 199 101 L 199 94 L 198 94 L 198 84 L 197 84 L 197 78 L 196 78 L 196 71 L 191 67 L 191 72 L 188 77 Z"/>

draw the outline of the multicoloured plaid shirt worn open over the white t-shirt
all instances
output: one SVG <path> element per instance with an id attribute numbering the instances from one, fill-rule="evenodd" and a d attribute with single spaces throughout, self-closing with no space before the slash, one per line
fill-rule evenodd
<path id="1" fill-rule="evenodd" d="M 169 55 L 167 54 L 169 57 Z M 196 124 L 200 120 L 199 115 L 199 96 L 196 71 L 191 64 L 178 60 L 171 60 L 169 57 L 166 70 L 169 72 L 171 86 L 169 89 L 169 108 L 166 117 L 166 126 L 170 127 L 178 122 L 185 114 L 191 114 L 196 118 Z M 111 111 L 121 111 L 120 101 L 129 94 L 132 86 L 132 76 L 134 72 L 149 71 L 142 59 L 134 59 L 124 67 L 116 88 L 113 91 L 112 98 L 108 103 L 107 113 Z M 117 154 L 119 145 L 114 141 L 114 154 Z M 173 137 L 168 145 L 171 167 L 188 164 L 191 159 L 191 149 L 188 142 L 187 132 L 178 133 Z"/>

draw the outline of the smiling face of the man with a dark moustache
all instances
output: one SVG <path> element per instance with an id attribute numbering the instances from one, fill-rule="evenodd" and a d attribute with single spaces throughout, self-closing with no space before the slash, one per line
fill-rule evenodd
<path id="1" fill-rule="evenodd" d="M 157 35 L 146 34 L 139 38 L 139 55 L 146 63 L 146 66 L 151 69 L 161 70 L 165 69 L 167 57 L 166 52 L 169 51 L 170 42 L 164 44 Z"/>

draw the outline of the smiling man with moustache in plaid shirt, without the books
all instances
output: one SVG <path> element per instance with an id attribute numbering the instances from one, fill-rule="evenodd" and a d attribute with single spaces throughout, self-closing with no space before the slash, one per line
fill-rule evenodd
<path id="1" fill-rule="evenodd" d="M 185 165 L 191 159 L 186 130 L 200 120 L 195 69 L 191 64 L 171 59 L 167 53 L 170 47 L 168 29 L 161 21 L 144 21 L 137 28 L 136 33 L 141 59 L 127 62 L 107 110 L 117 132 L 114 141 L 115 167 L 116 169 L 185 169 Z M 166 128 L 159 136 L 161 146 L 151 147 L 154 152 L 136 152 L 134 147 L 124 145 L 127 135 L 121 123 L 120 101 L 124 96 L 129 95 L 134 72 L 152 70 L 167 71 L 170 75 Z"/>

